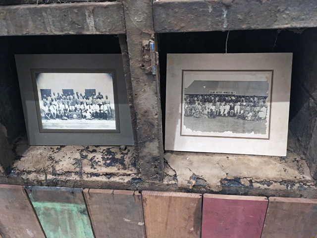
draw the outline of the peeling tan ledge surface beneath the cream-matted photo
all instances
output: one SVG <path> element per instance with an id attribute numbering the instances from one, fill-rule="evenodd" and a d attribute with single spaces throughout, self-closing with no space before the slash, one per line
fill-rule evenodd
<path id="1" fill-rule="evenodd" d="M 286 157 L 214 153 L 165 153 L 164 182 L 219 192 L 223 186 L 260 189 L 316 189 L 305 156 L 289 134 Z"/>

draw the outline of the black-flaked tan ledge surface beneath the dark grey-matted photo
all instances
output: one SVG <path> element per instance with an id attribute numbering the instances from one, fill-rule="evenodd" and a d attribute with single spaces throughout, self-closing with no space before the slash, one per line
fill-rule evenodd
<path id="1" fill-rule="evenodd" d="M 15 143 L 12 173 L 24 180 L 110 180 L 138 178 L 133 146 L 28 146 Z"/>

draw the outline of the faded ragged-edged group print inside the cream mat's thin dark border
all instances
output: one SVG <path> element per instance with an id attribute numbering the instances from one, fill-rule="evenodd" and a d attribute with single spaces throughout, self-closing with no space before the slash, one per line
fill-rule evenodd
<path id="1" fill-rule="evenodd" d="M 269 138 L 271 71 L 184 71 L 181 135 Z"/>

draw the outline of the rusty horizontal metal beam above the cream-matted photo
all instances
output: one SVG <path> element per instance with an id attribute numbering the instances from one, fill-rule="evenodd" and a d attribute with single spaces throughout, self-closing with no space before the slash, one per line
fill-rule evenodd
<path id="1" fill-rule="evenodd" d="M 155 32 L 317 26 L 316 0 L 156 0 Z"/>

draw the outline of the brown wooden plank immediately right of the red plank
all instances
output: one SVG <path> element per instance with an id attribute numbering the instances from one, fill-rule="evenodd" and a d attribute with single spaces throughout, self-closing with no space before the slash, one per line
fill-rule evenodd
<path id="1" fill-rule="evenodd" d="M 268 200 L 261 238 L 317 238 L 317 199 Z"/>

